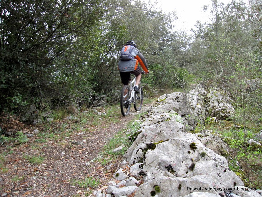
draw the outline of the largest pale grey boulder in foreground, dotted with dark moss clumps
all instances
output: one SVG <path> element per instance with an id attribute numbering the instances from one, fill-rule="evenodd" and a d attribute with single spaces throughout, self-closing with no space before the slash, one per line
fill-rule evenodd
<path id="1" fill-rule="evenodd" d="M 176 177 L 191 178 L 202 175 L 216 187 L 243 185 L 241 179 L 229 170 L 226 159 L 205 148 L 191 133 L 157 144 L 154 150 L 145 154 L 145 158 L 143 170 L 146 174 L 154 167 L 168 171 Z"/>

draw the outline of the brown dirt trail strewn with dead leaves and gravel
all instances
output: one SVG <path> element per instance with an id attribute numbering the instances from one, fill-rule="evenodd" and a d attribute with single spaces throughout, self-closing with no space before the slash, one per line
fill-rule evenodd
<path id="1" fill-rule="evenodd" d="M 150 105 L 144 104 L 140 112 L 147 111 Z M 119 122 L 105 122 L 93 128 L 92 132 L 73 131 L 68 137 L 41 143 L 41 147 L 35 145 L 32 137 L 28 142 L 15 146 L 12 154 L 3 159 L 2 168 L 6 170 L 1 171 L 0 196 L 84 196 L 86 190 L 74 182 L 90 176 L 99 175 L 104 179 L 102 182 L 112 177 L 102 170 L 97 172 L 97 168 L 101 168 L 96 166 L 98 163 L 86 163 L 96 158 L 108 139 L 126 128 L 137 114 L 132 107 L 130 115 L 121 116 Z M 2 155 L 8 151 L 10 147 L 0 147 Z M 41 155 L 45 159 L 33 164 L 25 159 L 26 155 L 35 155 L 36 158 Z"/>

